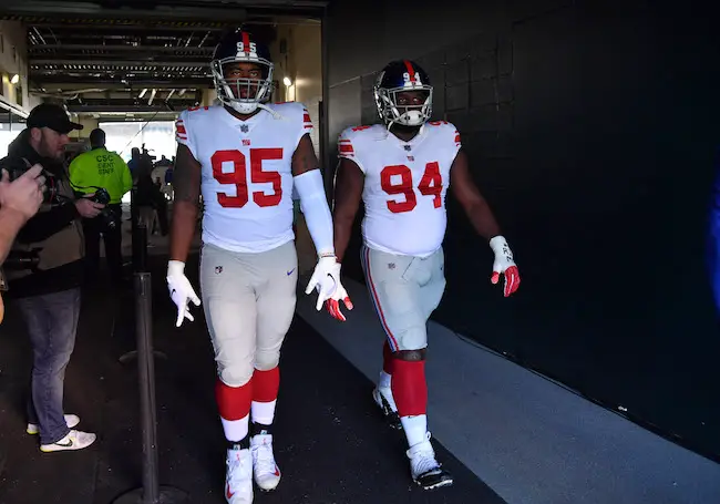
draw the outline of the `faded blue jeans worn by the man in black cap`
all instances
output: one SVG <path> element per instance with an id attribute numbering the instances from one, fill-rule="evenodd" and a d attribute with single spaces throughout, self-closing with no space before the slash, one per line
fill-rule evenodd
<path id="1" fill-rule="evenodd" d="M 65 368 L 75 348 L 80 288 L 18 299 L 32 343 L 32 382 L 28 421 L 40 428 L 40 443 L 60 441 L 70 429 L 62 398 Z"/>

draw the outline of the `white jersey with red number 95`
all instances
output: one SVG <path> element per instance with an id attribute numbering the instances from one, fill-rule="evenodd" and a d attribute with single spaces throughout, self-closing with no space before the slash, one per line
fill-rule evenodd
<path id="1" fill-rule="evenodd" d="M 295 238 L 292 154 L 312 131 L 301 103 L 268 105 L 240 121 L 222 105 L 184 111 L 177 142 L 203 167 L 203 241 L 239 253 L 261 253 Z"/>

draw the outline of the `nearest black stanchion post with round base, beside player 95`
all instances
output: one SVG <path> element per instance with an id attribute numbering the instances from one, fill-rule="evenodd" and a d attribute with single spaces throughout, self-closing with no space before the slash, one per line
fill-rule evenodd
<path id="1" fill-rule="evenodd" d="M 121 495 L 114 504 L 177 504 L 187 502 L 187 493 L 161 486 L 157 475 L 157 421 L 155 404 L 155 364 L 153 357 L 153 306 L 151 274 L 135 274 L 137 369 L 140 411 L 143 430 L 143 486 Z"/>

